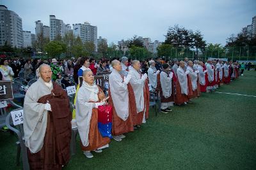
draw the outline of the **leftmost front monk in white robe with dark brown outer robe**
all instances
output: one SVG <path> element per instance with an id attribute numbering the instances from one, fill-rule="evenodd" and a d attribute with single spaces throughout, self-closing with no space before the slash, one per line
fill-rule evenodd
<path id="1" fill-rule="evenodd" d="M 51 67 L 39 67 L 40 78 L 24 99 L 24 138 L 30 169 L 61 169 L 70 159 L 72 114 L 67 93 L 52 82 Z"/>

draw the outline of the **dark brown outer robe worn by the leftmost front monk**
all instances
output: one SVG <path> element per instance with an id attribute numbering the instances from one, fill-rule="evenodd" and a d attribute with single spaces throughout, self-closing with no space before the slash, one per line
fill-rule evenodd
<path id="1" fill-rule="evenodd" d="M 70 139 L 72 114 L 66 92 L 52 82 L 51 94 L 40 97 L 38 103 L 51 104 L 47 113 L 47 127 L 44 146 L 37 153 L 30 153 L 30 169 L 61 169 L 70 159 Z"/>

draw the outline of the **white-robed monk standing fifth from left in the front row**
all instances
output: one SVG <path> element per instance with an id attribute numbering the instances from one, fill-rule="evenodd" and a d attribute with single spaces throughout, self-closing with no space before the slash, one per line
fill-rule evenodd
<path id="1" fill-rule="evenodd" d="M 156 69 L 155 67 L 156 62 L 154 60 L 150 60 L 148 63 L 150 64 L 150 67 L 148 68 L 148 81 L 152 89 L 156 90 L 157 75 L 160 73 L 160 71 Z"/>

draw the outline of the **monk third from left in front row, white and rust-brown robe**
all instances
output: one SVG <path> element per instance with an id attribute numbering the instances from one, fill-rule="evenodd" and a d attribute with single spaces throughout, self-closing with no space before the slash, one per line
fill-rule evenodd
<path id="1" fill-rule="evenodd" d="M 122 141 L 125 133 L 132 132 L 133 122 L 132 113 L 134 113 L 135 97 L 129 97 L 127 84 L 131 76 L 122 78 L 120 71 L 122 66 L 120 61 L 113 60 L 112 73 L 109 75 L 109 104 L 113 106 L 112 116 L 112 135 L 116 141 Z M 133 101 L 131 101 L 133 99 Z"/>

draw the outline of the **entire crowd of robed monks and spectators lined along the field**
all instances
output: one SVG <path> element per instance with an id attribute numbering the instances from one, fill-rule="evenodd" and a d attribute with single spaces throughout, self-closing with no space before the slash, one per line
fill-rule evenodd
<path id="1" fill-rule="evenodd" d="M 122 57 L 96 62 L 80 57 L 76 61 L 1 60 L 2 80 L 12 80 L 21 69 L 38 77 L 24 99 L 24 139 L 31 169 L 61 169 L 70 159 L 72 112 L 67 93 L 58 85 L 60 80 L 68 86 L 72 77 L 77 84 L 73 119 L 81 150 L 92 158 L 92 152 L 109 147 L 111 138 L 122 141 L 127 132 L 146 123 L 150 93 L 161 97 L 161 112 L 168 113 L 172 106 L 192 103 L 202 92 L 212 92 L 239 76 L 239 64 L 232 61 L 185 58 L 164 62 L 157 57 L 140 62 Z M 94 83 L 100 72 L 109 72 L 108 96 Z M 111 135 L 102 136 L 98 113 L 106 105 L 112 108 L 111 124 L 106 127 Z"/>

